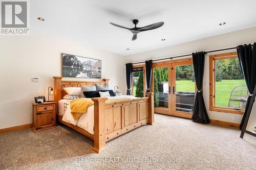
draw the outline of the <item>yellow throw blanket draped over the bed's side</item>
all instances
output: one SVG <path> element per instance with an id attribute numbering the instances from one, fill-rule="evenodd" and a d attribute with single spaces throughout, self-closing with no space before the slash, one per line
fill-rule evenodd
<path id="1" fill-rule="evenodd" d="M 87 109 L 94 105 L 94 102 L 88 98 L 76 99 L 70 102 L 71 114 L 77 120 Z"/>

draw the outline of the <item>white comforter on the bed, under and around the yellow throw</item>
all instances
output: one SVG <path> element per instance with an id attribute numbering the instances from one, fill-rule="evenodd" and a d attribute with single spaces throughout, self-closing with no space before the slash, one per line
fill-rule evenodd
<path id="1" fill-rule="evenodd" d="M 128 99 L 135 99 L 134 96 L 132 95 L 117 95 L 117 96 L 113 96 L 113 97 L 109 97 L 108 99 L 124 99 L 124 98 L 128 98 Z M 64 99 L 59 101 L 60 103 L 65 103 L 66 101 L 63 101 Z M 71 101 L 71 100 L 69 100 Z M 62 110 L 63 109 L 63 105 L 62 106 Z M 60 110 L 60 105 L 59 105 L 59 110 Z M 62 111 L 63 112 L 63 111 Z M 67 110 L 65 111 L 65 113 L 63 114 L 63 118 L 62 121 L 65 121 L 67 123 L 76 125 L 84 130 L 86 130 L 87 132 L 94 134 L 94 105 L 90 106 L 87 110 L 87 113 L 83 113 L 78 120 L 74 120 L 72 114 L 71 114 L 71 109 L 70 109 L 70 105 L 67 106 Z"/>

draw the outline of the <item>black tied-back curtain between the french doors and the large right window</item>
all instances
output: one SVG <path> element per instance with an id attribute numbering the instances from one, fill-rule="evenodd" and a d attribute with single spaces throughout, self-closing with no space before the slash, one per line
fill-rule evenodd
<path id="1" fill-rule="evenodd" d="M 196 85 L 198 89 L 196 94 L 196 99 L 195 99 L 195 106 L 194 106 L 194 112 L 192 115 L 192 120 L 193 122 L 197 122 L 197 123 L 209 124 L 210 119 L 208 117 L 208 114 L 205 108 L 203 91 L 202 91 L 205 52 L 193 53 L 192 56 L 193 56 Z"/>

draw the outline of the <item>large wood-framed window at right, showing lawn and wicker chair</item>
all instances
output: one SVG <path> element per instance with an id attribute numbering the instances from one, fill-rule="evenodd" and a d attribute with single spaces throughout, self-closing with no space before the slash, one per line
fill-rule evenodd
<path id="1" fill-rule="evenodd" d="M 243 114 L 247 95 L 237 53 L 210 56 L 210 110 Z"/>

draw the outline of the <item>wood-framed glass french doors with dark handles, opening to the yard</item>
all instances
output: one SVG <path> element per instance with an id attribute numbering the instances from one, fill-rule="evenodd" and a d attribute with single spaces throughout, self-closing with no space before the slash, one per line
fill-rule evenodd
<path id="1" fill-rule="evenodd" d="M 191 118 L 195 103 L 193 61 L 153 65 L 155 113 Z"/>

